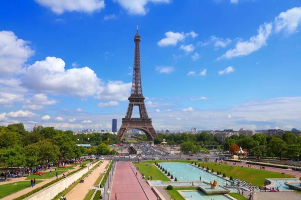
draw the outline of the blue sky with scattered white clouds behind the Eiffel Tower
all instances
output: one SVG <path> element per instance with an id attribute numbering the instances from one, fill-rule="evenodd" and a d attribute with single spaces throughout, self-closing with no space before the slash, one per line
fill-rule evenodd
<path id="1" fill-rule="evenodd" d="M 139 24 L 156 129 L 301 128 L 298 0 L 1 4 L 2 125 L 110 129 L 117 118 L 119 126 Z"/>

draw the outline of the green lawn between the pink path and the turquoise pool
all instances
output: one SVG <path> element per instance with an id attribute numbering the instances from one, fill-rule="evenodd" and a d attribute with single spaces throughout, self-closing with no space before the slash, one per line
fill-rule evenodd
<path id="1" fill-rule="evenodd" d="M 153 176 L 153 180 L 162 180 L 162 181 L 171 181 L 162 171 L 160 171 L 156 166 L 152 165 L 149 162 L 134 163 L 136 167 L 139 168 L 140 173 L 145 175 L 147 178 L 148 175 Z M 145 166 L 148 164 L 148 166 Z"/>

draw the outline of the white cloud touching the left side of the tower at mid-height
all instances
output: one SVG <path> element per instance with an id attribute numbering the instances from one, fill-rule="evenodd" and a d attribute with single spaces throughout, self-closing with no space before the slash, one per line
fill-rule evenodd
<path id="1" fill-rule="evenodd" d="M 106 86 L 99 88 L 96 99 L 99 100 L 127 100 L 130 95 L 131 82 L 109 81 Z"/>

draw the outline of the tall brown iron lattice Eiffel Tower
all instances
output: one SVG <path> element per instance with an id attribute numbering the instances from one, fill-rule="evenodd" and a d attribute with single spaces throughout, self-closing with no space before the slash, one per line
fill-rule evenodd
<path id="1" fill-rule="evenodd" d="M 121 127 L 117 133 L 118 139 L 121 141 L 122 136 L 128 130 L 131 129 L 139 129 L 142 130 L 148 140 L 153 140 L 155 136 L 157 136 L 156 130 L 152 125 L 152 119 L 148 118 L 146 107 L 144 104 L 144 96 L 142 94 L 142 85 L 141 85 L 141 75 L 140 75 L 140 35 L 138 33 L 138 25 L 137 25 L 137 33 L 135 34 L 135 55 L 134 55 L 134 67 L 133 67 L 133 80 L 130 96 L 128 97 L 129 103 L 127 107 L 127 111 L 125 117 L 122 118 Z M 133 107 L 139 107 L 139 118 L 132 118 Z"/>

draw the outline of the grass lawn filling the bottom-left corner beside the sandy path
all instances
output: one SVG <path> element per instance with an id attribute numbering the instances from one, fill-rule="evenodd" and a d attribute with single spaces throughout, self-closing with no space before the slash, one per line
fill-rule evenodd
<path id="1" fill-rule="evenodd" d="M 36 185 L 39 182 L 43 182 L 43 180 L 37 180 Z M 17 183 L 17 185 L 13 185 Z M 11 182 L 7 184 L 0 185 L 0 198 L 16 193 L 22 189 L 30 187 L 30 181 L 19 181 L 19 182 Z"/>

